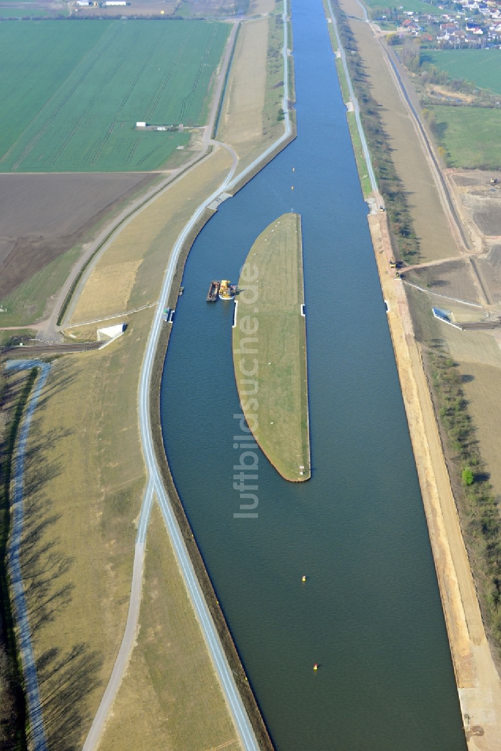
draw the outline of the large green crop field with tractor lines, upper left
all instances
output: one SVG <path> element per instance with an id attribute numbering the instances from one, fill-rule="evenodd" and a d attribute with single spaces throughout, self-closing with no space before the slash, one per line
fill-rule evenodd
<path id="1" fill-rule="evenodd" d="M 92 21 L 0 25 L 0 171 L 152 170 L 204 125 L 228 24 Z"/>

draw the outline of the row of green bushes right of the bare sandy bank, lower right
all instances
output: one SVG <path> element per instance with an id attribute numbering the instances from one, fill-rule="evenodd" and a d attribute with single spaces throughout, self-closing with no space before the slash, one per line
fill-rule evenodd
<path id="1" fill-rule="evenodd" d="M 440 424 L 452 454 L 452 472 L 462 490 L 456 493 L 463 532 L 473 555 L 475 580 L 487 626 L 501 648 L 501 519 L 481 460 L 475 427 L 468 414 L 457 364 L 442 351 L 429 355 Z"/>

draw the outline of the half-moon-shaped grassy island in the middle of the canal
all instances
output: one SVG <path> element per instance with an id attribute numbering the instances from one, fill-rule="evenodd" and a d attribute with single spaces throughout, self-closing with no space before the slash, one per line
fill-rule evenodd
<path id="1" fill-rule="evenodd" d="M 298 214 L 283 214 L 250 249 L 238 282 L 233 358 L 252 434 L 286 480 L 308 480 L 309 420 L 303 246 Z"/>

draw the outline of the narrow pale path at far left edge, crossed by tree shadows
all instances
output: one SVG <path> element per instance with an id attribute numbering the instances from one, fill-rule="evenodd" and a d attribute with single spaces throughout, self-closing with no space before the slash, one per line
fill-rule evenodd
<path id="1" fill-rule="evenodd" d="M 23 535 L 24 519 L 24 464 L 26 456 L 26 442 L 28 441 L 29 429 L 32 424 L 33 412 L 37 406 L 42 389 L 49 375 L 50 364 L 40 360 L 8 360 L 6 370 L 40 369 L 32 393 L 26 404 L 26 411 L 21 422 L 20 433 L 17 437 L 16 447 L 12 464 L 12 530 L 8 544 L 8 568 L 11 578 L 11 588 L 14 593 L 14 612 L 17 628 L 19 629 L 19 649 L 23 664 L 23 677 L 26 692 L 26 704 L 29 716 L 29 735 L 31 747 L 34 751 L 47 751 L 44 721 L 40 703 L 40 691 L 38 688 L 37 668 L 33 654 L 32 636 L 29 629 L 28 609 L 23 587 L 23 576 L 20 564 L 20 544 Z"/>

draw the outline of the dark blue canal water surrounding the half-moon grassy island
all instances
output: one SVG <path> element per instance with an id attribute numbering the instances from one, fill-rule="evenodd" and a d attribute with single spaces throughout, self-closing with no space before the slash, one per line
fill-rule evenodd
<path id="1" fill-rule="evenodd" d="M 222 204 L 189 254 L 164 366 L 164 443 L 276 749 L 460 751 L 430 541 L 321 0 L 293 0 L 292 14 L 298 137 Z M 288 483 L 260 454 L 258 518 L 237 519 L 233 305 L 205 297 L 211 279 L 238 279 L 255 237 L 291 209 L 303 222 L 312 479 Z"/>

